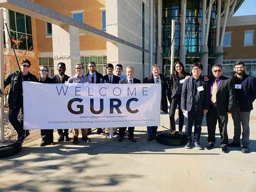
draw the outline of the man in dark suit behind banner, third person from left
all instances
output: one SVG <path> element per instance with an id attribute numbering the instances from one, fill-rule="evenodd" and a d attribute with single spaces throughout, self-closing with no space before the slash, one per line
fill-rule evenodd
<path id="1" fill-rule="evenodd" d="M 65 83 L 70 77 L 65 74 L 66 71 L 66 64 L 60 62 L 58 63 L 58 75 L 55 75 L 53 78 L 54 83 Z M 61 141 L 70 141 L 68 137 L 68 129 L 58 129 L 58 142 Z"/>

